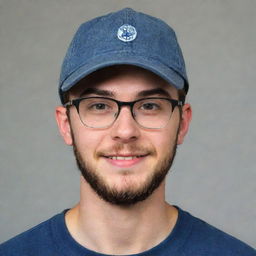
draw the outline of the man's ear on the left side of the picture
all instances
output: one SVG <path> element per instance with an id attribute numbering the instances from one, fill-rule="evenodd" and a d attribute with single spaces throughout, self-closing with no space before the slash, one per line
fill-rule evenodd
<path id="1" fill-rule="evenodd" d="M 67 109 L 63 106 L 56 107 L 55 118 L 58 124 L 59 132 L 67 145 L 72 145 L 71 127 L 67 116 Z"/>

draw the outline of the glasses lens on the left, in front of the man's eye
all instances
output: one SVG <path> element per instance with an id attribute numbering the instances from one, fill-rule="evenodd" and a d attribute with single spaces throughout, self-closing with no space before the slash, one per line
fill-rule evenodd
<path id="1" fill-rule="evenodd" d="M 79 116 L 84 125 L 92 128 L 110 126 L 118 112 L 115 101 L 104 98 L 88 98 L 80 101 Z"/>

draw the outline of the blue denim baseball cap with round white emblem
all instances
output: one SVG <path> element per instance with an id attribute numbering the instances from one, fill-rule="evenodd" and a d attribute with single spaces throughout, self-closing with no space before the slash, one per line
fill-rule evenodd
<path id="1" fill-rule="evenodd" d="M 147 69 L 188 91 L 185 62 L 175 32 L 164 21 L 125 8 L 83 23 L 64 58 L 59 95 L 92 72 L 128 64 Z"/>

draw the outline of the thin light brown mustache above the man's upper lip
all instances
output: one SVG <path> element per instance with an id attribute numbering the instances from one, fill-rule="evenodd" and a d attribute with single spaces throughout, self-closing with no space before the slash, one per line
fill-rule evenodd
<path id="1" fill-rule="evenodd" d="M 137 155 L 154 155 L 156 150 L 149 146 L 137 145 L 137 144 L 123 144 L 116 143 L 111 147 L 107 147 L 97 151 L 96 155 L 106 156 L 106 155 L 118 155 L 118 154 L 137 154 Z"/>

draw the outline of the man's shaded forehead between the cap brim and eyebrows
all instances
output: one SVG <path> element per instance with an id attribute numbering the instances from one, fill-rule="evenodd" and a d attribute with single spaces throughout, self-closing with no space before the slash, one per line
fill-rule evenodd
<path id="1" fill-rule="evenodd" d="M 161 89 L 166 95 L 176 98 L 178 91 L 164 79 L 140 67 L 116 65 L 98 70 L 78 82 L 69 92 L 70 96 L 81 97 L 88 88 L 110 91 L 115 97 L 134 97 L 142 91 Z"/>

